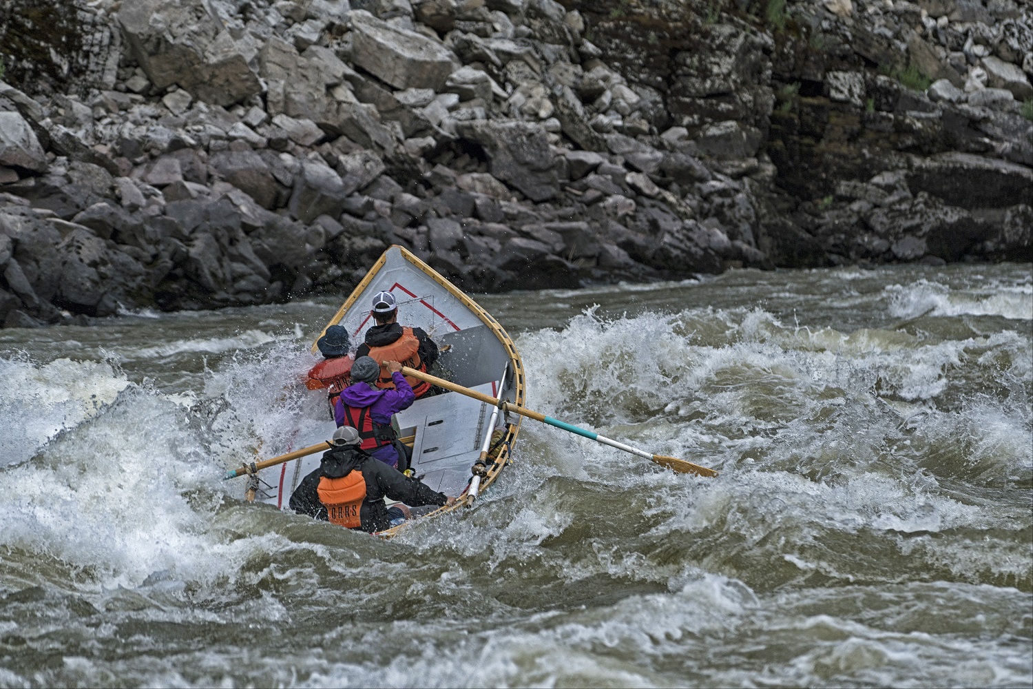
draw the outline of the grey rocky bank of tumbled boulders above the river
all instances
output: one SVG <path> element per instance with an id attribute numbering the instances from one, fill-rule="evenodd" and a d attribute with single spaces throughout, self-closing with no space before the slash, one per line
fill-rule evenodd
<path id="1" fill-rule="evenodd" d="M 0 322 L 1030 259 L 1013 0 L 10 0 Z"/>

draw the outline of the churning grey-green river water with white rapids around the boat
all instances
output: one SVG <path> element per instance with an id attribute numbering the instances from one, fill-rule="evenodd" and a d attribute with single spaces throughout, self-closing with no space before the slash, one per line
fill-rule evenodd
<path id="1" fill-rule="evenodd" d="M 340 303 L 0 331 L 0 686 L 1033 683 L 1030 267 L 478 296 L 528 406 L 382 541 L 223 471 L 323 414 Z"/>

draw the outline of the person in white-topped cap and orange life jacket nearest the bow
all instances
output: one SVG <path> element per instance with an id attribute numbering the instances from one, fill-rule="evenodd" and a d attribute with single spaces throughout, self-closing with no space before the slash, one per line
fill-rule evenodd
<path id="1" fill-rule="evenodd" d="M 355 357 L 372 356 L 373 361 L 402 362 L 404 366 L 428 372 L 438 361 L 438 345 L 420 327 L 403 327 L 398 322 L 398 302 L 390 292 L 373 295 L 373 310 L 370 315 L 377 322 L 366 331 L 366 342 L 358 345 Z M 406 378 L 416 398 L 421 398 L 431 389 L 431 384 L 418 378 Z M 386 367 L 380 369 L 379 387 L 395 386 L 394 377 Z"/>

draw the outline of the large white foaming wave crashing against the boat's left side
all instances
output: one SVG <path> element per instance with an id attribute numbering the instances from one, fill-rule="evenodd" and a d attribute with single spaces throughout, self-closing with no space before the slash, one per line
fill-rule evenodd
<path id="1" fill-rule="evenodd" d="M 26 554 L 6 566 L 26 583 L 67 577 L 92 591 L 154 575 L 204 585 L 283 549 L 275 533 L 227 538 L 223 491 L 240 495 L 243 483 L 220 479 L 263 440 L 274 450 L 289 443 L 300 414 L 314 416 L 299 390 L 306 364 L 287 345 L 241 352 L 191 400 L 129 383 L 106 364 L 0 362 L 19 383 L 0 407 L 4 450 L 31 458 L 0 469 L 0 545 Z"/>

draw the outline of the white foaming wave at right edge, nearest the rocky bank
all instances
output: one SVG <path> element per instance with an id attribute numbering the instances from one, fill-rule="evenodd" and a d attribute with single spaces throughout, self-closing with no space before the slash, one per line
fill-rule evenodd
<path id="1" fill-rule="evenodd" d="M 1003 316 L 1033 319 L 1031 285 L 993 285 L 987 289 L 951 289 L 926 279 L 909 285 L 889 285 L 889 313 L 897 318 L 918 316 Z"/>

